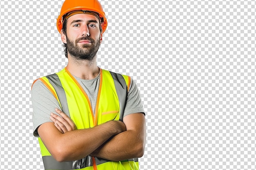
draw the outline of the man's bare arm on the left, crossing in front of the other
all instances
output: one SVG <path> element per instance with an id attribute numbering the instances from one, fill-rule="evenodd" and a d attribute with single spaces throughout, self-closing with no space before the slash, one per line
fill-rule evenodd
<path id="1" fill-rule="evenodd" d="M 54 123 L 48 122 L 39 126 L 38 133 L 57 161 L 72 161 L 86 157 L 110 137 L 124 131 L 119 124 L 110 121 L 90 129 L 61 133 Z"/>

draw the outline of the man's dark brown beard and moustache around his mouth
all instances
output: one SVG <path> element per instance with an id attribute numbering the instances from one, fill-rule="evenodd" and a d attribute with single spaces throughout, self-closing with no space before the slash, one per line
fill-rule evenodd
<path id="1" fill-rule="evenodd" d="M 90 44 L 83 44 L 82 46 L 78 45 L 78 42 L 81 40 L 91 41 Z M 92 61 L 97 54 L 100 46 L 100 37 L 95 42 L 94 39 L 90 37 L 81 37 L 76 39 L 73 43 L 70 39 L 67 38 L 67 52 L 77 60 L 88 60 Z"/>

